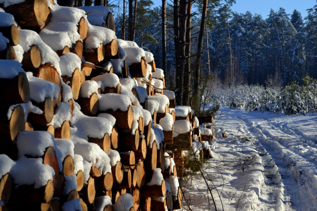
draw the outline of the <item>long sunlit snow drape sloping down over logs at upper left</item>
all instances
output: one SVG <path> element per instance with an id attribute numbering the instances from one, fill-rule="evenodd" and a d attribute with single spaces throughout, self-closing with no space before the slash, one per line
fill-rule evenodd
<path id="1" fill-rule="evenodd" d="M 24 52 L 28 52 L 30 50 L 30 46 L 36 45 L 41 52 L 41 64 L 50 63 L 51 66 L 56 68 L 58 74 L 61 75 L 58 55 L 42 41 L 41 37 L 36 32 L 20 29 L 19 36 L 19 43 L 22 46 Z"/>

